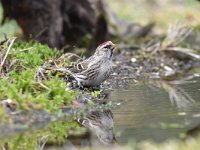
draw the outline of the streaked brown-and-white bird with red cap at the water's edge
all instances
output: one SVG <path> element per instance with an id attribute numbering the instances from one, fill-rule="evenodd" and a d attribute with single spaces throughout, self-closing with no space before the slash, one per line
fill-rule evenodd
<path id="1" fill-rule="evenodd" d="M 111 41 L 103 42 L 92 56 L 68 68 L 80 88 L 98 87 L 110 76 L 115 48 Z"/>

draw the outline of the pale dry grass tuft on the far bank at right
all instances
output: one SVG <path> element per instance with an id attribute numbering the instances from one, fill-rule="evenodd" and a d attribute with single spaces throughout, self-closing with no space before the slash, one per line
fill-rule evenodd
<path id="1" fill-rule="evenodd" d="M 157 51 L 174 52 L 176 58 L 179 56 L 189 56 L 189 58 L 200 60 L 200 55 L 193 49 L 179 47 L 178 45 L 192 32 L 192 27 L 177 23 L 170 25 L 166 37 L 151 41 L 143 48 L 146 52 L 155 53 Z M 152 44 L 153 43 L 153 44 Z M 176 55 L 178 54 L 178 55 Z"/>

